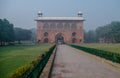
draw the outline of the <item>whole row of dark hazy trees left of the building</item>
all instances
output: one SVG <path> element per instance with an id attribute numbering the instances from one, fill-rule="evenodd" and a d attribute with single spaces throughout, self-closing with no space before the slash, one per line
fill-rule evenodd
<path id="1" fill-rule="evenodd" d="M 0 45 L 14 44 L 15 41 L 30 40 L 32 32 L 27 29 L 14 28 L 7 19 L 0 19 Z"/>

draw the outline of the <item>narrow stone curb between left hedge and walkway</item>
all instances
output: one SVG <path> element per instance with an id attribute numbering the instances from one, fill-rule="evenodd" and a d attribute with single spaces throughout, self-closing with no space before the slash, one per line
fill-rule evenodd
<path id="1" fill-rule="evenodd" d="M 54 59 L 55 59 L 55 55 L 56 55 L 56 51 L 57 51 L 57 46 L 55 47 L 52 55 L 50 56 L 46 66 L 44 67 L 44 69 L 43 69 L 39 78 L 50 78 L 53 63 L 54 63 Z"/>

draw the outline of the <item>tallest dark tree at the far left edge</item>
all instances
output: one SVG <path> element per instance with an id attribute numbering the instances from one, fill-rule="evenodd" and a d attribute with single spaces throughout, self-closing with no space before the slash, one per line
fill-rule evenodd
<path id="1" fill-rule="evenodd" d="M 0 19 L 0 45 L 5 45 L 5 42 L 13 42 L 14 38 L 13 24 L 6 19 Z"/>

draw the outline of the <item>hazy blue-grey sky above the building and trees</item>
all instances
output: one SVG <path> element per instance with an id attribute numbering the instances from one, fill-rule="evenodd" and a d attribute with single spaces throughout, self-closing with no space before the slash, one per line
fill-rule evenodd
<path id="1" fill-rule="evenodd" d="M 15 27 L 35 28 L 37 12 L 43 16 L 77 16 L 83 12 L 84 29 L 120 21 L 120 0 L 0 0 L 0 18 Z"/>

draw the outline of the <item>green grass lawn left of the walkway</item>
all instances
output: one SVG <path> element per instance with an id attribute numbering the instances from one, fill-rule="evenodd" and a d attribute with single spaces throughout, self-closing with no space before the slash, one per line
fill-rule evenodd
<path id="1" fill-rule="evenodd" d="M 0 78 L 9 78 L 17 68 L 30 64 L 52 45 L 26 45 L 0 47 Z"/>

